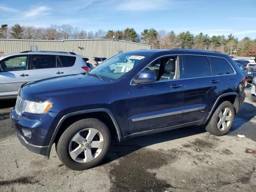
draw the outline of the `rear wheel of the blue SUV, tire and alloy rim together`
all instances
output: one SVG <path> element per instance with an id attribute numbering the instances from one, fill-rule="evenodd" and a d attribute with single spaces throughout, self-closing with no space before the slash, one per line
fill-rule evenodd
<path id="1" fill-rule="evenodd" d="M 212 118 L 206 126 L 206 131 L 216 136 L 225 135 L 232 127 L 234 117 L 234 106 L 232 103 L 224 101 L 214 111 Z"/>

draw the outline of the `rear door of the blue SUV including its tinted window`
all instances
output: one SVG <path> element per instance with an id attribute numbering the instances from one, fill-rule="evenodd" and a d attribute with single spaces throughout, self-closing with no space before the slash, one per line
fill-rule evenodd
<path id="1" fill-rule="evenodd" d="M 218 96 L 220 79 L 211 76 L 206 56 L 183 55 L 185 91 L 182 123 L 205 120 Z"/>

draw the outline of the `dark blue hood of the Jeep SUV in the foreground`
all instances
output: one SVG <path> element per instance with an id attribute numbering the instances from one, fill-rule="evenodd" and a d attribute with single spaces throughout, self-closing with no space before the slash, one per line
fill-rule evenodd
<path id="1" fill-rule="evenodd" d="M 30 101 L 44 102 L 50 97 L 79 94 L 103 89 L 110 82 L 82 74 L 59 76 L 24 84 L 19 95 Z"/>

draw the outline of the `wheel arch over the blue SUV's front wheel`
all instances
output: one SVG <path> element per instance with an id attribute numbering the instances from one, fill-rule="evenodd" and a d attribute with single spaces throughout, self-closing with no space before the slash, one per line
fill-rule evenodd
<path id="1" fill-rule="evenodd" d="M 104 118 L 103 114 L 106 114 L 107 116 L 105 116 L 105 118 Z M 114 126 L 114 128 L 110 127 L 110 132 L 111 132 L 111 134 L 112 133 L 116 134 L 116 136 L 118 137 L 118 140 L 120 142 L 120 140 L 122 138 L 122 135 L 121 135 L 118 123 L 116 121 L 116 118 L 114 117 L 112 112 L 110 112 L 110 110 L 104 109 L 104 108 L 100 108 L 100 109 L 90 109 L 90 110 L 76 111 L 76 112 L 72 112 L 72 113 L 64 115 L 60 119 L 60 121 L 58 122 L 58 125 L 56 126 L 56 128 L 54 130 L 54 133 L 52 134 L 52 138 L 50 140 L 49 146 L 52 146 L 52 144 L 56 141 L 56 138 L 58 138 L 59 133 L 61 131 L 64 132 L 65 128 L 67 128 L 67 126 L 64 127 L 64 125 L 65 125 L 64 122 L 65 121 L 71 120 L 71 122 L 74 122 L 74 120 L 81 119 L 82 117 L 86 117 L 86 118 L 99 118 L 100 120 L 103 120 L 103 119 L 106 120 L 108 125 L 110 123 L 110 124 L 112 124 Z M 109 121 L 111 121 L 111 122 L 109 122 Z M 64 130 L 62 128 L 64 128 Z"/>

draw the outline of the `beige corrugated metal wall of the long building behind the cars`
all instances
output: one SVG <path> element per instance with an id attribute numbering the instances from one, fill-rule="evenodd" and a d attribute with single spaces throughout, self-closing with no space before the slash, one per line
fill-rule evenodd
<path id="1" fill-rule="evenodd" d="M 10 54 L 31 50 L 31 46 L 37 46 L 38 50 L 75 52 L 82 56 L 109 58 L 123 52 L 138 49 L 150 49 L 149 45 L 132 43 L 113 39 L 86 39 L 86 40 L 13 40 L 0 39 L 0 52 Z M 84 47 L 84 50 L 78 48 Z"/>

